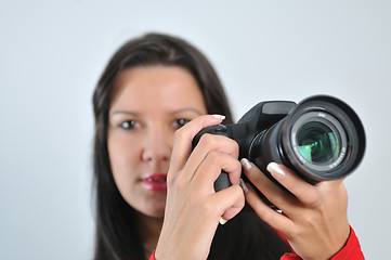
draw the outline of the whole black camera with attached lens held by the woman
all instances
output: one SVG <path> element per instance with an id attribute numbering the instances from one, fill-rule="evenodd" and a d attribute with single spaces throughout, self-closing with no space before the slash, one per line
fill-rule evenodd
<path id="1" fill-rule="evenodd" d="M 239 158 L 248 158 L 271 180 L 266 166 L 274 161 L 294 170 L 309 183 L 347 177 L 361 162 L 365 131 L 355 112 L 329 95 L 310 96 L 299 104 L 290 101 L 261 102 L 237 123 L 203 129 L 203 134 L 220 134 L 239 146 Z M 230 186 L 222 172 L 214 190 Z"/>

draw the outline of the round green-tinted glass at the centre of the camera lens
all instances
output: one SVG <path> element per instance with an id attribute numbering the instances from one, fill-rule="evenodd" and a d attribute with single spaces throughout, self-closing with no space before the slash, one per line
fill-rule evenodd
<path id="1" fill-rule="evenodd" d="M 336 131 L 323 121 L 309 121 L 297 132 L 300 155 L 312 164 L 329 164 L 338 159 L 340 143 Z"/>

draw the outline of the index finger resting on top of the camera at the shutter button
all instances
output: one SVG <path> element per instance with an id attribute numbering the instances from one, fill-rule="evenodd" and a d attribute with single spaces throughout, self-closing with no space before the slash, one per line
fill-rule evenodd
<path id="1" fill-rule="evenodd" d="M 173 148 L 171 153 L 170 173 L 168 181 L 174 179 L 175 174 L 186 164 L 188 155 L 192 152 L 192 141 L 194 136 L 204 128 L 220 123 L 224 116 L 206 115 L 200 116 L 175 131 Z"/>

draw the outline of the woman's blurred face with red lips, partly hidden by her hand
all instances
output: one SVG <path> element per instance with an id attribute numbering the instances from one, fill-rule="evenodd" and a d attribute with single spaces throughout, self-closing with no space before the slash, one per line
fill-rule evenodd
<path id="1" fill-rule="evenodd" d="M 207 114 L 194 77 L 174 66 L 121 73 L 109 109 L 108 154 L 125 200 L 149 217 L 162 217 L 173 134 Z"/>

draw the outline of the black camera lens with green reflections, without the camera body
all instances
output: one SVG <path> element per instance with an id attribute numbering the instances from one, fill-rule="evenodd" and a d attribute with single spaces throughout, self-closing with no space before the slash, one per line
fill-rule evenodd
<path id="1" fill-rule="evenodd" d="M 317 183 L 347 177 L 361 162 L 364 151 L 365 132 L 355 112 L 336 98 L 316 95 L 259 133 L 249 155 L 264 172 L 269 162 L 276 161 Z"/>

